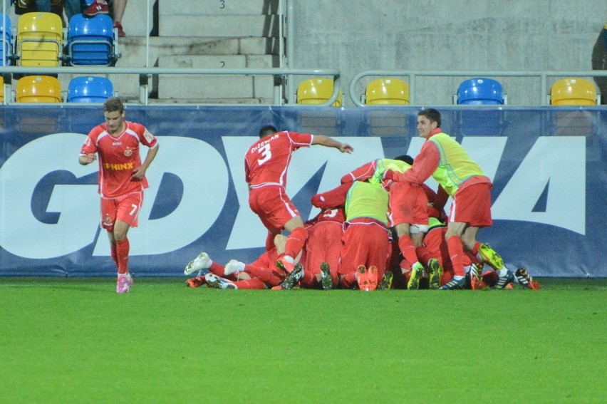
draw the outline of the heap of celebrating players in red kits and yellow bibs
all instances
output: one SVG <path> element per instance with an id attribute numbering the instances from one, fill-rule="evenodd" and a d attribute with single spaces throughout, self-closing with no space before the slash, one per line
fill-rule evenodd
<path id="1" fill-rule="evenodd" d="M 286 171 L 299 147 L 353 152 L 324 135 L 261 128 L 245 155 L 249 206 L 266 229 L 266 252 L 225 266 L 202 252 L 185 267 L 190 286 L 220 289 L 539 289 L 524 268 L 512 271 L 477 232 L 492 225 L 492 183 L 440 128 L 432 108 L 417 114 L 426 141 L 415 157 L 378 159 L 312 197 L 321 212 L 304 223 L 286 195 Z M 440 187 L 425 181 L 434 177 Z M 447 216 L 444 206 L 452 197 Z M 288 232 L 286 237 L 281 233 Z"/>

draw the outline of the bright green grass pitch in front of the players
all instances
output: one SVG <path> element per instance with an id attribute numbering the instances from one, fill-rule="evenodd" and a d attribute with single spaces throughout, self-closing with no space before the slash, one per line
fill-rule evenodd
<path id="1" fill-rule="evenodd" d="M 593 403 L 607 279 L 223 291 L 0 277 L 3 403 Z"/>

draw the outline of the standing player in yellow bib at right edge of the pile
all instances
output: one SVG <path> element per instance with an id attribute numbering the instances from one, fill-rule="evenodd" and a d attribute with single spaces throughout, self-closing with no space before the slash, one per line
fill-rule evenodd
<path id="1" fill-rule="evenodd" d="M 400 173 L 387 170 L 384 178 L 395 182 L 422 184 L 430 176 L 453 198 L 447 224 L 447 247 L 454 276 L 441 289 L 463 289 L 464 248 L 491 266 L 499 276 L 495 289 L 514 281 L 512 271 L 504 267 L 502 257 L 488 244 L 477 242 L 477 232 L 493 224 L 491 218 L 492 182 L 464 148 L 440 128 L 440 112 L 427 108 L 417 113 L 417 131 L 426 142 L 410 170 Z M 472 276 L 475 289 L 478 277 Z"/>

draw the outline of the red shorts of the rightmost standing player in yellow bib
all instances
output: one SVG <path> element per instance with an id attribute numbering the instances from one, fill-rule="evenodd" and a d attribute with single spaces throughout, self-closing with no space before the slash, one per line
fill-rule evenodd
<path id="1" fill-rule="evenodd" d="M 491 226 L 491 187 L 489 183 L 479 183 L 455 192 L 449 222 L 467 223 L 474 227 Z"/>

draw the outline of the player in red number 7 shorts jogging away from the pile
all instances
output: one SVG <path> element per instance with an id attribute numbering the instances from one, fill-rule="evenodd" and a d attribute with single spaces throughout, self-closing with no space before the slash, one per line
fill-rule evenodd
<path id="1" fill-rule="evenodd" d="M 158 152 L 158 140 L 145 126 L 125 120 L 120 98 L 103 103 L 105 123 L 90 131 L 78 162 L 88 165 L 99 160 L 101 227 L 110 238 L 110 253 L 118 267 L 116 292 L 126 293 L 133 285 L 128 269 L 128 229 L 138 224 L 143 190 L 148 187 L 145 172 Z M 139 145 L 149 147 L 141 162 Z"/>

